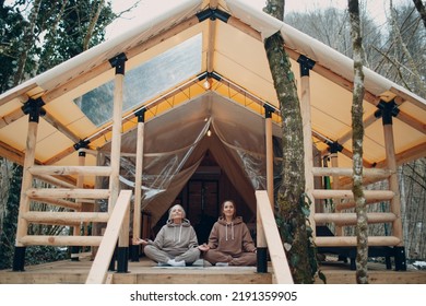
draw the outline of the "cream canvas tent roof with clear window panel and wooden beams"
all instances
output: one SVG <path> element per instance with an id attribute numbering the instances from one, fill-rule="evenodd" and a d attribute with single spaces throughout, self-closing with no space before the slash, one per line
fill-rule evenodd
<path id="1" fill-rule="evenodd" d="M 227 122 L 238 129 L 256 127 L 249 120 L 262 118 L 262 104 L 280 108 L 262 43 L 277 31 L 285 39 L 297 84 L 300 84 L 296 62 L 299 56 L 316 62 L 310 72 L 312 139 L 316 146 L 326 151 L 326 141 L 338 141 L 344 148 L 340 165 L 351 166 L 352 60 L 239 0 L 181 1 L 173 8 L 165 8 L 164 14 L 155 20 L 143 21 L 122 35 L 3 93 L 0 96 L 0 155 L 22 163 L 27 116 L 21 107 L 28 98 L 37 97 L 43 98 L 47 113 L 40 118 L 37 137 L 35 157 L 38 163 L 76 164 L 74 144 L 81 140 L 90 140 L 93 150 L 105 149 L 110 141 L 111 120 L 108 114 L 115 75 L 109 59 L 119 54 L 126 54 L 128 59 L 125 134 L 135 129 L 133 111 L 146 107 L 146 126 L 156 127 L 147 134 L 147 141 L 156 142 L 155 150 L 158 152 L 177 150 L 177 145 L 189 143 L 185 143 L 180 129 L 174 123 L 192 122 L 192 129 L 188 131 L 197 134 L 197 122 L 201 118 L 201 113 L 194 111 L 179 117 L 177 109 L 194 103 L 214 105 L 216 99 L 227 103 L 223 104 L 224 109 L 215 107 L 215 121 Z M 206 71 L 209 76 L 214 76 L 210 90 L 203 87 L 205 80 L 200 78 L 205 76 Z M 393 120 L 398 162 L 425 156 L 426 101 L 368 69 L 365 74 L 365 165 L 380 166 L 386 160 L 382 123 L 374 115 L 380 101 L 394 99 L 399 106 L 400 113 Z M 227 110 L 236 106 L 238 111 Z M 212 111 L 203 107 L 200 109 L 204 115 Z M 168 113 L 176 114 L 176 117 L 162 116 Z M 280 138 L 280 116 L 275 114 L 273 119 L 274 134 Z M 233 129 L 227 131 L 230 133 Z M 262 134 L 263 130 L 241 136 L 247 140 L 256 132 Z M 236 140 L 229 141 L 229 145 L 235 145 L 233 141 Z M 250 151 L 249 148 L 245 150 Z M 158 152 L 146 151 L 152 154 Z M 95 163 L 90 155 L 87 164 Z M 86 178 L 86 184 L 93 185 L 94 180 Z"/>

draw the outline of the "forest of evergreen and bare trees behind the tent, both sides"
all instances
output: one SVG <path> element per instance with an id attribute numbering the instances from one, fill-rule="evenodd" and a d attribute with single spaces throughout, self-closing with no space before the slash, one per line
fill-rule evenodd
<path id="1" fill-rule="evenodd" d="M 0 93 L 117 35 L 113 25 L 149 1 L 122 2 L 128 7 L 114 7 L 106 0 L 63 0 L 61 4 L 54 0 L 0 0 Z M 366 66 L 426 97 L 426 23 L 414 7 L 415 0 L 386 1 L 387 13 L 381 12 L 380 19 L 366 9 L 366 2 L 360 1 Z M 284 21 L 352 58 L 348 13 L 341 5 L 286 11 Z M 426 259 L 426 158 L 400 166 L 398 175 L 406 257 L 409 263 L 422 268 Z M 22 166 L 0 157 L 0 269 L 12 264 L 21 178 Z M 377 185 L 386 189 L 386 184 Z M 33 205 L 33 210 L 51 209 Z M 382 202 L 369 205 L 369 210 L 386 211 L 387 205 Z M 369 235 L 387 235 L 389 226 L 370 225 Z M 29 231 L 60 235 L 70 229 L 33 225 Z M 66 248 L 27 248 L 29 264 L 67 257 Z"/>

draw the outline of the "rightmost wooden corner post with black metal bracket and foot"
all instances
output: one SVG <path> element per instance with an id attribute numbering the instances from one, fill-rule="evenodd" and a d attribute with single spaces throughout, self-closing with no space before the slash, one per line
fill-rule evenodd
<path id="1" fill-rule="evenodd" d="M 404 236 L 402 233 L 402 220 L 401 220 L 401 195 L 398 183 L 397 174 L 397 157 L 392 128 L 392 117 L 398 116 L 399 109 L 394 101 L 386 103 L 380 102 L 378 104 L 377 115 L 382 116 L 384 145 L 386 145 L 386 161 L 388 169 L 391 170 L 391 175 L 388 178 L 389 188 L 393 191 L 394 197 L 390 200 L 390 210 L 397 215 L 397 219 L 392 222 L 392 236 L 398 237 L 400 243 L 395 247 L 395 270 L 406 270 L 406 258 L 404 248 Z"/>

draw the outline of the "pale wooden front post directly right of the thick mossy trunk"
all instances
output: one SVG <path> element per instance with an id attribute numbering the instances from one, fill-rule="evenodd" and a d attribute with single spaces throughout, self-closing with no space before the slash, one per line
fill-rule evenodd
<path id="1" fill-rule="evenodd" d="M 315 61 L 300 56 L 297 59 L 300 67 L 300 110 L 301 121 L 304 126 L 304 151 L 305 151 L 305 192 L 307 197 L 312 201 L 310 205 L 309 222 L 312 228 L 312 235 L 316 236 L 315 224 L 315 199 L 312 198 L 313 186 L 313 146 L 312 146 L 312 128 L 311 128 L 311 115 L 310 115 L 310 80 L 309 71 L 313 68 Z"/>

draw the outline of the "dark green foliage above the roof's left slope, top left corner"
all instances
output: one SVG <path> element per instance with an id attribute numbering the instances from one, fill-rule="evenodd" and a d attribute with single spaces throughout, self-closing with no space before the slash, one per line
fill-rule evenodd
<path id="1" fill-rule="evenodd" d="M 29 2 L 29 3 L 28 3 Z M 99 5 L 99 0 L 42 1 L 34 25 L 34 35 L 28 46 L 24 34 L 28 26 L 31 1 L 16 0 L 7 5 L 0 2 L 0 93 L 14 84 L 14 76 L 24 51 L 23 79 L 35 76 L 105 39 L 105 27 L 116 17 L 109 2 L 100 11 L 99 17 L 90 31 L 91 21 Z M 66 3 L 64 7 L 62 4 Z"/>

